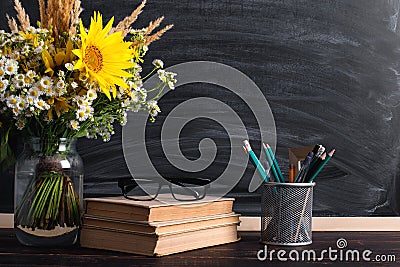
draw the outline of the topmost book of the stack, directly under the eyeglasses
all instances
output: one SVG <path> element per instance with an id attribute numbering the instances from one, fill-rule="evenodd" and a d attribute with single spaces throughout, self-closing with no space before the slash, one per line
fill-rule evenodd
<path id="1" fill-rule="evenodd" d="M 163 199 L 163 196 L 160 196 Z M 193 202 L 133 201 L 124 197 L 86 198 L 86 214 L 127 221 L 160 222 L 232 212 L 233 198 L 205 197 Z"/>

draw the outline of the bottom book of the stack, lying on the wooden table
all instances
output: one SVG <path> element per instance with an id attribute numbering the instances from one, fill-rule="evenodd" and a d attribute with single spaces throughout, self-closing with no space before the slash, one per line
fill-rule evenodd
<path id="1" fill-rule="evenodd" d="M 83 226 L 80 237 L 82 247 L 146 256 L 164 256 L 238 240 L 237 223 L 163 235 Z"/>

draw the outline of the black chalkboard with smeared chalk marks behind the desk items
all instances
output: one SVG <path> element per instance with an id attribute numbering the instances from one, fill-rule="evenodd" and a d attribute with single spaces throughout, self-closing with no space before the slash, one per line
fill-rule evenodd
<path id="1" fill-rule="evenodd" d="M 138 3 L 83 1 L 84 22 L 94 10 L 119 21 Z M 37 18 L 36 1 L 23 4 Z M 323 143 L 337 149 L 316 180 L 314 216 L 393 216 L 400 212 L 399 7 L 399 0 L 151 0 L 136 26 L 160 15 L 175 24 L 151 45 L 148 58 L 167 65 L 215 61 L 248 75 L 272 109 L 277 158 L 286 174 L 289 147 Z M 6 13 L 15 14 L 11 0 L 0 2 L 0 28 L 6 28 Z M 162 174 L 216 178 L 226 167 L 230 145 L 226 129 L 215 121 L 194 120 L 180 134 L 182 153 L 191 159 L 199 157 L 196 148 L 203 138 L 217 144 L 214 163 L 201 174 L 171 167 L 157 145 L 168 112 L 201 96 L 232 107 L 252 145 L 260 147 L 259 127 L 240 98 L 215 85 L 185 85 L 160 100 L 162 113 L 146 132 L 152 161 Z M 109 143 L 80 140 L 79 151 L 86 169 L 85 194 L 118 193 L 116 179 L 130 175 L 121 128 Z M 243 215 L 255 216 L 260 210 L 260 193 L 247 190 L 253 173 L 249 164 L 230 193 L 237 198 L 235 210 Z M 10 175 L 2 173 L 0 212 L 12 211 Z"/>

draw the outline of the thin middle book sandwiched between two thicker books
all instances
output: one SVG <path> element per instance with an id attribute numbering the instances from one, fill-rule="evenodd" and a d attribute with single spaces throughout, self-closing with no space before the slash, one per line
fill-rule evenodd
<path id="1" fill-rule="evenodd" d="M 196 217 L 181 220 L 169 220 L 163 222 L 139 222 L 119 219 L 104 218 L 92 215 L 83 216 L 83 225 L 107 229 L 120 229 L 132 232 L 167 234 L 202 229 L 210 226 L 240 223 L 239 214 L 227 213 L 213 216 Z"/>

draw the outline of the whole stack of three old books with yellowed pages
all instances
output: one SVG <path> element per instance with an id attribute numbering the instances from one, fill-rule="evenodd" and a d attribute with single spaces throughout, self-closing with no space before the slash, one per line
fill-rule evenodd
<path id="1" fill-rule="evenodd" d="M 233 201 L 86 198 L 80 243 L 82 247 L 163 256 L 235 242 L 240 221 L 232 212 Z"/>

